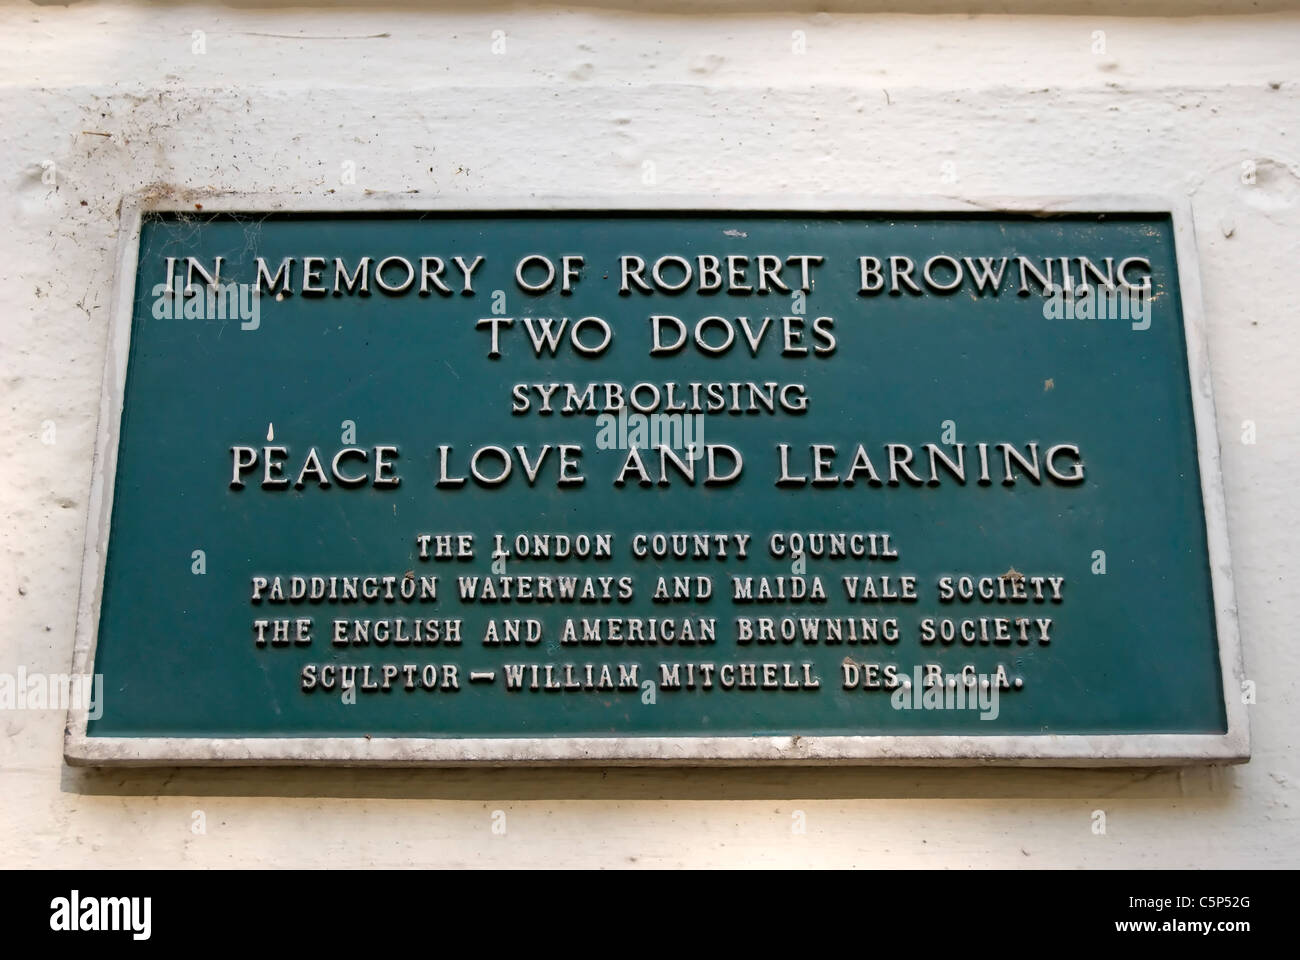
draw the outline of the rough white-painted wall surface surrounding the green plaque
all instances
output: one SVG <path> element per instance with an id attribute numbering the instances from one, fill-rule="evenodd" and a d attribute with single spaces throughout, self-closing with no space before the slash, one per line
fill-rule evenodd
<path id="1" fill-rule="evenodd" d="M 1288 5 L 0 5 L 0 671 L 70 666 L 124 193 L 1171 193 L 1196 217 L 1258 684 L 1254 760 L 1180 771 L 94 771 L 64 766 L 61 713 L 0 710 L 0 865 L 1300 864 Z M 1226 13 L 1160 16 L 1187 9 Z M 356 186 L 339 182 L 346 161 Z"/>

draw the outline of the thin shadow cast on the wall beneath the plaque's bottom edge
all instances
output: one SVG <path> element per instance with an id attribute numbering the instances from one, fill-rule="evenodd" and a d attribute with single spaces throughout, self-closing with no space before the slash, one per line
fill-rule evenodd
<path id="1" fill-rule="evenodd" d="M 73 767 L 84 796 L 365 800 L 1190 800 L 1226 805 L 1231 766 Z"/>

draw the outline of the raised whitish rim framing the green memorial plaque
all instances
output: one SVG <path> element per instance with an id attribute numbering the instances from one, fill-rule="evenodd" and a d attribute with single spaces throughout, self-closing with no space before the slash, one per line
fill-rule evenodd
<path id="1" fill-rule="evenodd" d="M 372 195 L 348 200 L 337 195 L 190 195 L 185 200 L 150 194 L 124 198 L 113 313 L 108 330 L 95 464 L 91 479 L 81 602 L 77 610 L 75 674 L 94 673 L 104 563 L 113 507 L 118 428 L 130 353 L 135 271 L 140 224 L 147 212 L 203 213 L 346 213 L 411 212 L 714 212 L 745 213 L 1161 213 L 1174 226 L 1178 281 L 1183 298 L 1187 363 L 1201 498 L 1214 592 L 1219 667 L 1223 676 L 1226 734 L 1106 734 L 1097 736 L 554 736 L 521 739 L 464 738 L 100 738 L 87 736 L 87 708 L 69 710 L 64 757 L 74 765 L 751 765 L 751 764 L 894 764 L 894 765 L 1039 765 L 1124 766 L 1243 762 L 1251 735 L 1242 702 L 1242 647 L 1228 555 L 1227 514 L 1214 420 L 1214 397 L 1201 311 L 1200 271 L 1191 206 L 1184 199 L 1092 196 L 1069 199 L 948 196 L 880 199 L 871 196 L 623 196 L 433 199 L 413 194 Z"/>

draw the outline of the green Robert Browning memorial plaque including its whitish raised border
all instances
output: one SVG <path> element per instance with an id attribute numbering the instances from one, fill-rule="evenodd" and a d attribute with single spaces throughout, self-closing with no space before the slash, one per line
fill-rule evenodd
<path id="1" fill-rule="evenodd" d="M 129 204 L 73 762 L 1248 756 L 1128 202 Z"/>

